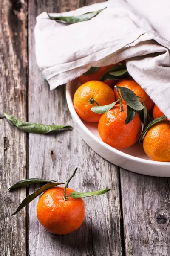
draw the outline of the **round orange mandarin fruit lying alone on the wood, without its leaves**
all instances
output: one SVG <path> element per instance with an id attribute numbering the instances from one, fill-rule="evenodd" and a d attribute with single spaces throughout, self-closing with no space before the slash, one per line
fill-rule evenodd
<path id="1" fill-rule="evenodd" d="M 73 189 L 66 189 L 69 195 Z M 37 205 L 40 224 L 51 233 L 64 235 L 77 230 L 85 218 L 85 204 L 81 198 L 63 199 L 64 187 L 54 187 L 43 193 Z"/>

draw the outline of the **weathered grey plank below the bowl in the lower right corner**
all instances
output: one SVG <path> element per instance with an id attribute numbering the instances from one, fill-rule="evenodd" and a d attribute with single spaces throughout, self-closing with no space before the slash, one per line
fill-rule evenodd
<path id="1" fill-rule="evenodd" d="M 126 256 L 169 256 L 170 179 L 120 175 Z"/>

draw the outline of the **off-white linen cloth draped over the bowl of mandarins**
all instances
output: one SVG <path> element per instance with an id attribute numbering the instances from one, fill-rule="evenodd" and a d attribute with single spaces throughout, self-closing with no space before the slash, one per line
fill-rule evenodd
<path id="1" fill-rule="evenodd" d="M 109 0 L 58 16 L 105 7 L 91 20 L 74 24 L 50 20 L 46 12 L 37 17 L 36 59 L 50 89 L 91 66 L 126 59 L 130 75 L 170 119 L 170 0 Z"/>

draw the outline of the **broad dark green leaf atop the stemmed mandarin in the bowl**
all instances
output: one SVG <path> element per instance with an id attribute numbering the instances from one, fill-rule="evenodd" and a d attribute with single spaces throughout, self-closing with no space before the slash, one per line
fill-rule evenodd
<path id="1" fill-rule="evenodd" d="M 139 98 L 136 96 L 135 93 L 133 93 L 132 90 L 126 87 L 119 87 L 119 89 L 120 89 L 122 98 L 130 108 L 133 108 L 134 110 L 144 109 L 144 106 L 140 102 Z"/>

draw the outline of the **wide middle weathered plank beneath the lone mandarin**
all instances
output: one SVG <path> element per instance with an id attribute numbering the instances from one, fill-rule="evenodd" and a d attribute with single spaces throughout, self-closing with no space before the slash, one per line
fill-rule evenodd
<path id="1" fill-rule="evenodd" d="M 75 3 L 74 9 L 80 5 L 79 1 Z M 72 125 L 65 100 L 65 87 L 61 86 L 50 91 L 42 80 L 35 61 L 33 36 L 35 17 L 45 11 L 47 6 L 45 1 L 31 0 L 29 3 L 29 120 Z M 54 6 L 54 3 L 48 6 L 48 10 L 59 12 L 59 6 Z M 68 9 L 62 6 L 62 11 Z M 45 231 L 36 216 L 38 198 L 31 202 L 29 256 L 45 256 L 46 253 L 49 256 L 122 255 L 119 178 L 116 166 L 92 151 L 79 137 L 75 127 L 73 131 L 62 131 L 53 135 L 29 135 L 30 177 L 66 180 L 76 166 L 79 170 L 71 181 L 72 188 L 78 191 L 90 191 L 114 187 L 115 192 L 85 199 L 84 223 L 79 230 L 65 236 L 56 236 Z M 30 190 L 32 191 L 33 189 Z"/>

